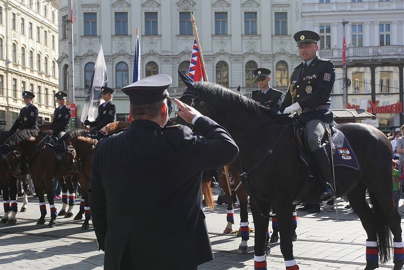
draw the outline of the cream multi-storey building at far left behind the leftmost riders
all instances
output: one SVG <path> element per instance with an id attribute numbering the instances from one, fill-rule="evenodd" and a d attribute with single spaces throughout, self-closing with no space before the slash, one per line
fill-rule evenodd
<path id="1" fill-rule="evenodd" d="M 0 0 L 0 130 L 8 130 L 25 106 L 22 92 L 35 94 L 38 122 L 51 121 L 58 92 L 57 1 Z"/>

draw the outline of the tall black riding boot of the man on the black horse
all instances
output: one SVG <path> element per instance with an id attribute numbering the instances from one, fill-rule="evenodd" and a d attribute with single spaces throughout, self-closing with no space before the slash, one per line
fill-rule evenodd
<path id="1" fill-rule="evenodd" d="M 329 201 L 335 198 L 334 194 L 334 177 L 332 176 L 330 162 L 328 160 L 327 152 L 324 148 L 320 148 L 312 152 L 312 157 L 317 167 L 317 171 L 320 173 L 320 177 L 323 181 L 321 185 L 321 201 Z"/>

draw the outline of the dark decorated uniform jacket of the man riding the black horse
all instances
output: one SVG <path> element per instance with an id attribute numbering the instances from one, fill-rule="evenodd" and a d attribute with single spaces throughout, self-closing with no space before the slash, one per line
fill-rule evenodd
<path id="1" fill-rule="evenodd" d="M 296 89 L 294 102 L 298 102 L 302 110 L 299 120 L 307 122 L 318 119 L 332 123 L 333 116 L 330 111 L 331 91 L 335 80 L 335 68 L 331 60 L 317 56 L 301 74 L 303 63 L 298 65 L 292 73 L 292 91 Z M 292 96 L 287 92 L 280 111 L 292 105 Z"/>

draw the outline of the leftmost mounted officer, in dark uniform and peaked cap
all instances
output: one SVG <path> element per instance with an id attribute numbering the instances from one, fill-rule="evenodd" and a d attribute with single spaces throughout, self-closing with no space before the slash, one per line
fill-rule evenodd
<path id="1" fill-rule="evenodd" d="M 38 108 L 32 103 L 35 95 L 29 91 L 24 91 L 22 97 L 25 107 L 20 110 L 17 120 L 10 129 L 10 132 L 13 133 L 25 128 L 38 129 Z"/>

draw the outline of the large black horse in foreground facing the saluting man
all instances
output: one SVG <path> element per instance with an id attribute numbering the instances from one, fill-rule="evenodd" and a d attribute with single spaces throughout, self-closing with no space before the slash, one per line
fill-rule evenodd
<path id="1" fill-rule="evenodd" d="M 211 82 L 193 83 L 182 75 L 187 88 L 181 101 L 211 117 L 232 134 L 240 149 L 242 166 L 250 186 L 250 206 L 255 223 L 255 266 L 266 267 L 265 240 L 269 209 L 277 209 L 280 248 L 287 269 L 298 269 L 293 257 L 293 199 L 299 193 L 307 166 L 299 158 L 290 117 L 279 116 L 259 103 Z M 403 265 L 400 215 L 392 197 L 391 146 L 378 129 L 346 123 L 336 127 L 347 137 L 359 157 L 360 169 L 335 167 L 337 196 L 347 195 L 367 233 L 366 270 L 390 259 L 394 236 L 394 269 Z M 263 142 L 266 147 L 263 148 Z M 288 162 L 281 162 L 288 160 Z M 372 209 L 366 201 L 370 191 Z M 252 194 L 251 194 L 252 193 Z M 313 198 L 308 198 L 310 202 Z M 252 201 L 252 202 L 251 202 Z"/>

